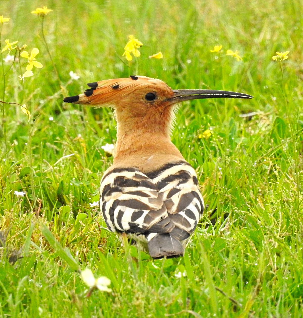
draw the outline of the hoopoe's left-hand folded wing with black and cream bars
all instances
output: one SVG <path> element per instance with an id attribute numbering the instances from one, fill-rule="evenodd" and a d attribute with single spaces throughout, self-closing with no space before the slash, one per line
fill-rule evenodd
<path id="1" fill-rule="evenodd" d="M 100 206 L 113 232 L 167 233 L 174 227 L 162 193 L 136 168 L 116 168 L 103 176 Z"/>

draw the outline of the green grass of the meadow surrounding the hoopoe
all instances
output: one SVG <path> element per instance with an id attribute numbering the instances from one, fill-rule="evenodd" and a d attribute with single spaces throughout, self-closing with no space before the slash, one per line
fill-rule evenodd
<path id="1" fill-rule="evenodd" d="M 53 10 L 44 32 L 60 82 L 38 17 L 30 13 L 43 5 Z M 302 317 L 302 5 L 1 2 L 0 15 L 11 18 L 2 28 L 2 48 L 7 38 L 27 44 L 28 52 L 37 47 L 43 64 L 24 81 L 27 100 L 18 63 L 5 77 L 4 100 L 27 102 L 32 118 L 28 123 L 20 106 L 1 104 L 1 317 Z M 152 261 L 121 247 L 106 230 L 89 203 L 98 200 L 101 176 L 112 163 L 101 149 L 116 141 L 112 111 L 62 101 L 88 82 L 134 74 L 136 63 L 130 69 L 121 61 L 129 34 L 144 44 L 140 75 L 175 89 L 254 96 L 194 100 L 177 113 L 172 140 L 196 169 L 209 205 L 180 259 Z M 222 53 L 210 52 L 215 45 L 223 45 Z M 243 61 L 227 56 L 227 49 L 238 50 Z M 163 59 L 148 59 L 158 51 Z M 283 79 L 272 60 L 276 51 L 290 51 Z M 70 71 L 79 80 L 72 81 Z M 2 92 L 3 75 L 0 100 Z M 250 112 L 256 114 L 240 116 Z M 209 128 L 211 137 L 199 138 Z M 216 207 L 216 224 L 206 226 Z M 113 292 L 85 297 L 87 287 L 65 261 L 70 258 L 40 224 L 79 268 L 107 276 Z M 187 276 L 176 277 L 179 271 Z"/>

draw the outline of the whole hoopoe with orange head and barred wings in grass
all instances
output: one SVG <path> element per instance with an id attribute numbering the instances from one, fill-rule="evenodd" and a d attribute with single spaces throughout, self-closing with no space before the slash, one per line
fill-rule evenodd
<path id="1" fill-rule="evenodd" d="M 143 243 L 154 259 L 182 256 L 204 202 L 195 169 L 171 142 L 176 103 L 252 98 L 243 93 L 171 89 L 146 76 L 88 83 L 67 103 L 109 106 L 117 121 L 113 165 L 100 184 L 100 208 L 112 232 Z"/>

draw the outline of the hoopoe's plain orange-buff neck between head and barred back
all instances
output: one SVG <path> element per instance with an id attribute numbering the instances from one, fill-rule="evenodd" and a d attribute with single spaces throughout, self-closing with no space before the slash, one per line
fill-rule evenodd
<path id="1" fill-rule="evenodd" d="M 170 139 L 172 116 L 172 109 L 135 118 L 116 113 L 114 165 L 149 171 L 163 163 L 182 160 L 180 151 Z"/>

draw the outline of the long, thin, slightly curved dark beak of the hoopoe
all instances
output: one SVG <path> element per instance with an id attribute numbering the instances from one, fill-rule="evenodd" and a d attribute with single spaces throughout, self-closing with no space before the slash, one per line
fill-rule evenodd
<path id="1" fill-rule="evenodd" d="M 200 98 L 253 98 L 253 96 L 243 93 L 216 91 L 212 89 L 175 89 L 173 92 L 174 95 L 168 99 L 173 103 Z"/>

